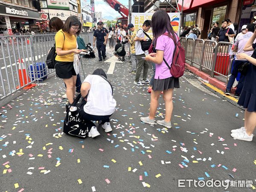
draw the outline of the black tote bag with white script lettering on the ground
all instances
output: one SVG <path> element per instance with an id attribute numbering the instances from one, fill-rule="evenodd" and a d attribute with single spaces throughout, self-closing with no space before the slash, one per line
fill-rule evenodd
<path id="1" fill-rule="evenodd" d="M 66 117 L 64 120 L 63 132 L 72 137 L 79 137 L 84 139 L 87 137 L 90 129 L 95 126 L 91 121 L 85 121 L 79 114 L 79 107 L 76 104 L 81 98 L 81 93 L 76 97 L 72 105 L 69 107 L 66 105 Z"/>

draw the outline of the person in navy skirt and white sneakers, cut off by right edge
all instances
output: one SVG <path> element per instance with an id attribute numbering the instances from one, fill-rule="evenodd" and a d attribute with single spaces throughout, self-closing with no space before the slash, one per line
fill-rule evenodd
<path id="1" fill-rule="evenodd" d="M 254 31 L 253 35 L 244 46 L 244 51 L 254 50 L 252 56 L 245 53 L 236 55 L 237 59 L 246 59 L 250 62 L 244 80 L 244 87 L 237 102 L 238 105 L 245 108 L 244 127 L 231 131 L 231 137 L 244 141 L 253 140 L 253 131 L 256 127 L 256 44 L 253 44 L 255 39 L 256 31 Z"/>

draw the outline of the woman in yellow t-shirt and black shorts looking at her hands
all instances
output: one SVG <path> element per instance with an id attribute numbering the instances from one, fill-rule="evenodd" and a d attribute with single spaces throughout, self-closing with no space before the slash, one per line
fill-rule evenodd
<path id="1" fill-rule="evenodd" d="M 81 31 L 81 22 L 76 16 L 70 16 L 64 26 L 55 35 L 55 58 L 56 76 L 63 79 L 67 86 L 66 93 L 69 105 L 73 103 L 76 90 L 76 71 L 73 66 L 74 54 L 81 50 L 76 48 L 76 35 Z"/>

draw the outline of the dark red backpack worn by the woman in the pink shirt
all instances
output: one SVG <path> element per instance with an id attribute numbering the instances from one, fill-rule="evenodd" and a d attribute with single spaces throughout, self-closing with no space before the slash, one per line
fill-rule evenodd
<path id="1" fill-rule="evenodd" d="M 166 60 L 163 58 L 163 61 L 166 63 L 168 66 L 171 74 L 175 78 L 179 78 L 183 76 L 184 70 L 185 70 L 185 49 L 181 47 L 180 45 L 180 39 L 177 37 L 178 42 L 175 41 L 172 35 L 169 35 L 169 33 L 164 33 L 163 35 L 166 35 L 170 38 L 175 43 L 175 50 L 173 53 L 173 58 L 172 58 L 172 66 L 170 67 L 169 64 L 166 62 Z"/>

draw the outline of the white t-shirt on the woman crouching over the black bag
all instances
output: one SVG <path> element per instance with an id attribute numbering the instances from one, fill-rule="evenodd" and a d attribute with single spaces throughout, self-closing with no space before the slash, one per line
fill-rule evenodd
<path id="1" fill-rule="evenodd" d="M 98 75 L 88 75 L 84 82 L 91 85 L 84 112 L 99 116 L 113 114 L 116 110 L 116 100 L 113 99 L 110 84 Z"/>

